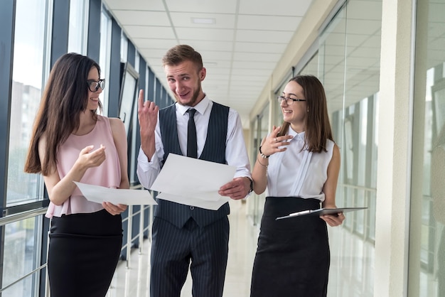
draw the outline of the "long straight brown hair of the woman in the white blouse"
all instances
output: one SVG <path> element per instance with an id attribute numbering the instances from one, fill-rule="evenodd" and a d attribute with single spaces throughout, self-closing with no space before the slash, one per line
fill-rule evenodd
<path id="1" fill-rule="evenodd" d="M 303 88 L 306 106 L 309 110 L 306 115 L 306 132 L 304 134 L 309 151 L 318 153 L 326 151 L 326 139 L 333 141 L 333 136 L 323 85 L 313 75 L 297 75 L 289 82 L 296 82 Z M 284 121 L 278 135 L 287 134 L 289 125 L 289 122 Z"/>

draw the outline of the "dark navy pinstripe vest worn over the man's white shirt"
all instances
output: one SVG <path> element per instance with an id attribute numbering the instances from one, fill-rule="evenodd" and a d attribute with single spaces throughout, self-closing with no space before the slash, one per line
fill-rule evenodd
<path id="1" fill-rule="evenodd" d="M 227 139 L 227 121 L 229 107 L 213 102 L 212 111 L 208 123 L 207 138 L 201 160 L 216 163 L 227 163 L 225 160 L 225 141 Z M 168 153 L 182 155 L 179 146 L 178 130 L 176 126 L 176 107 L 171 105 L 159 110 L 159 127 L 161 129 L 161 139 L 163 144 L 163 161 L 166 161 Z M 183 227 L 191 217 L 200 227 L 209 225 L 216 220 L 220 220 L 230 213 L 228 203 L 225 203 L 219 210 L 206 210 L 200 207 L 191 207 L 176 202 L 157 199 L 158 205 L 154 209 L 154 216 L 163 220 L 168 220 L 177 227 Z"/>

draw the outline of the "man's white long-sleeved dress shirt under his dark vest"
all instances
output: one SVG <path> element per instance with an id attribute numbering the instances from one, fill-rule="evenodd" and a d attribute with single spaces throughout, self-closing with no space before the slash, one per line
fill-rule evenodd
<path id="1" fill-rule="evenodd" d="M 187 156 L 187 110 L 191 107 L 183 106 L 176 103 L 176 123 L 178 128 L 179 146 L 183 156 Z M 195 107 L 195 125 L 196 138 L 198 142 L 198 158 L 203 152 L 205 140 L 207 138 L 208 122 L 210 119 L 210 112 L 212 111 L 213 102 L 205 96 Z M 151 158 L 147 158 L 144 151 L 139 148 L 139 156 L 137 158 L 137 175 L 141 185 L 145 188 L 150 188 L 156 180 L 161 171 L 161 161 L 163 159 L 164 151 L 161 141 L 161 130 L 159 128 L 159 113 L 158 123 L 155 130 L 156 153 Z M 227 164 L 237 168 L 235 178 L 247 176 L 250 177 L 250 161 L 247 155 L 244 136 L 242 133 L 242 124 L 240 115 L 235 109 L 229 109 L 229 118 L 227 122 L 227 136 L 226 136 L 225 159 Z"/>

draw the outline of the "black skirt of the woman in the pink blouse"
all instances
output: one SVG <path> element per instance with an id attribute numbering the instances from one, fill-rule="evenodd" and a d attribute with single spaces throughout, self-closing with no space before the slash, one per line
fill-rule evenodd
<path id="1" fill-rule="evenodd" d="M 107 294 L 122 247 L 122 217 L 106 210 L 53 217 L 48 251 L 51 297 Z"/>

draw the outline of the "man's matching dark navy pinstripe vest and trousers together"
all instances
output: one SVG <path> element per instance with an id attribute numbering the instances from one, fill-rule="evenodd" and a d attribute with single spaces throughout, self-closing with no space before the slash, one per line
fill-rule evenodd
<path id="1" fill-rule="evenodd" d="M 213 102 L 200 159 L 226 163 L 229 108 Z M 168 153 L 181 155 L 174 105 L 159 111 L 165 162 Z M 166 200 L 155 207 L 151 248 L 151 297 L 179 297 L 191 259 L 193 296 L 223 296 L 229 241 L 228 203 L 205 210 Z"/>

